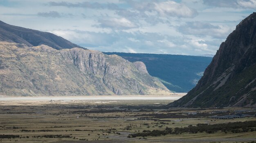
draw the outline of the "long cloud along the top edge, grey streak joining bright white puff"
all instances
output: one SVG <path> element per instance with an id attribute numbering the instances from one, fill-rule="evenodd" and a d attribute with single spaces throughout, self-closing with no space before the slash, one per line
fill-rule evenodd
<path id="1" fill-rule="evenodd" d="M 98 3 L 98 2 L 49 2 L 49 6 L 65 6 L 65 7 L 81 7 L 90 9 L 110 9 L 115 11 L 117 15 L 127 17 L 147 17 L 146 12 L 156 12 L 158 16 L 166 17 L 195 17 L 198 15 L 195 9 L 192 9 L 185 4 L 174 1 L 166 2 L 135 2 L 132 0 L 124 0 L 130 4 L 129 9 L 122 9 L 115 3 Z"/>

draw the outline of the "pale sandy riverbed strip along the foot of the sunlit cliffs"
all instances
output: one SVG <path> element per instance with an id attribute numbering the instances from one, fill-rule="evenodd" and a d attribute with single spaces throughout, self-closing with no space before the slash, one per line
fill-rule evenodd
<path id="1" fill-rule="evenodd" d="M 96 96 L 40 96 L 10 97 L 0 95 L 0 105 L 39 104 L 168 104 L 186 93 L 175 95 L 96 95 Z"/>

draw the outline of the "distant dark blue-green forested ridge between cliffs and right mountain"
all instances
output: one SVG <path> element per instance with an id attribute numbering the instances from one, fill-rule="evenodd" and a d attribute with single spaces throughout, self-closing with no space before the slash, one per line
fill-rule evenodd
<path id="1" fill-rule="evenodd" d="M 103 53 L 116 54 L 130 62 L 145 63 L 151 76 L 159 78 L 169 90 L 175 92 L 188 92 L 195 87 L 212 60 L 211 57 L 171 54 Z"/>

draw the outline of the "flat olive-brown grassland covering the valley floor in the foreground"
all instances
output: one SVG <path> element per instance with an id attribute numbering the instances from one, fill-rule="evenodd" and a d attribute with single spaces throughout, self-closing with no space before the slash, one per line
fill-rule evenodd
<path id="1" fill-rule="evenodd" d="M 128 138 L 144 130 L 165 130 L 256 121 L 255 117 L 232 120 L 209 118 L 215 111 L 254 110 L 252 108 L 190 109 L 164 105 L 172 100 L 88 100 L 88 101 L 0 101 L 0 135 L 3 143 L 242 143 L 256 141 L 256 131 L 198 132 L 166 134 L 157 137 Z M 187 113 L 197 113 L 187 115 Z M 0 136 L 1 137 L 1 136 Z M 14 137 L 14 138 L 13 138 Z"/>

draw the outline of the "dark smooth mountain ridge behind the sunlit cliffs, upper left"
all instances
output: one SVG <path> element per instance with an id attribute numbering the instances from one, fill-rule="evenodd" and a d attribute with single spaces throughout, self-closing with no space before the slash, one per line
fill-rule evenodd
<path id="1" fill-rule="evenodd" d="M 82 48 L 52 33 L 12 26 L 2 21 L 0 21 L 0 41 L 23 43 L 30 47 L 44 44 L 57 50 Z"/>

